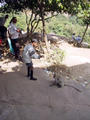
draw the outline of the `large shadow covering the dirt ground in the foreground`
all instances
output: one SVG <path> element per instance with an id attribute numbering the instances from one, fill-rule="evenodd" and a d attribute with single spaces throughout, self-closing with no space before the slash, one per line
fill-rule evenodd
<path id="1" fill-rule="evenodd" d="M 31 81 L 26 77 L 25 65 L 17 67 L 12 67 L 12 72 L 5 72 L 0 68 L 0 120 L 90 119 L 88 89 L 78 92 L 68 86 L 50 87 L 52 79 L 44 68 L 34 68 L 34 76 L 38 80 Z M 63 74 L 66 71 L 64 75 L 67 76 L 75 71 L 76 74 L 81 72 L 78 67 L 86 72 L 90 64 L 70 68 L 57 66 L 57 70 Z M 49 69 L 51 68 L 55 66 L 50 66 Z"/>

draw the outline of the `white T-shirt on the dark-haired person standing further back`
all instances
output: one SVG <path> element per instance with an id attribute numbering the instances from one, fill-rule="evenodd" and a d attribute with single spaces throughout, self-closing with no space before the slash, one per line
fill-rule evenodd
<path id="1" fill-rule="evenodd" d="M 17 32 L 15 24 L 11 23 L 8 27 L 8 31 L 11 39 L 17 39 L 19 37 L 19 32 Z"/>

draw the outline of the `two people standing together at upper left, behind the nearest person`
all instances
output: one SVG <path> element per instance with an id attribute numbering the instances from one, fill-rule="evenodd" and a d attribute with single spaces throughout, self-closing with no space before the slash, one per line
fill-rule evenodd
<path id="1" fill-rule="evenodd" d="M 8 28 L 6 28 L 5 22 L 8 19 L 8 15 L 5 15 L 4 17 L 0 17 L 0 38 L 2 39 L 2 42 L 8 38 L 11 40 L 11 45 L 14 50 L 15 54 L 15 59 L 19 58 L 19 34 L 20 30 L 17 29 L 16 23 L 17 23 L 17 18 L 13 17 L 10 20 Z M 7 41 L 6 41 L 7 43 Z"/>

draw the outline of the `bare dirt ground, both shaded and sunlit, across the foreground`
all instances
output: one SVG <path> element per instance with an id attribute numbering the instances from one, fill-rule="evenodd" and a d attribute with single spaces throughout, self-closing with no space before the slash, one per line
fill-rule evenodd
<path id="1" fill-rule="evenodd" d="M 61 74 L 81 92 L 50 87 L 48 63 L 42 58 L 33 61 L 37 81 L 26 77 L 23 63 L 0 61 L 0 120 L 90 120 L 90 49 L 65 42 L 60 48 L 66 52 Z"/>

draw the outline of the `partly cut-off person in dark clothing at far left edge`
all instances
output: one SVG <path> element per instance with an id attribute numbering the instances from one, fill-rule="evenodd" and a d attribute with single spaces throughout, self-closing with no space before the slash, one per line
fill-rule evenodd
<path id="1" fill-rule="evenodd" d="M 7 37 L 7 28 L 4 26 L 7 19 L 8 15 L 0 17 L 0 36 L 2 39 L 5 39 Z"/>

